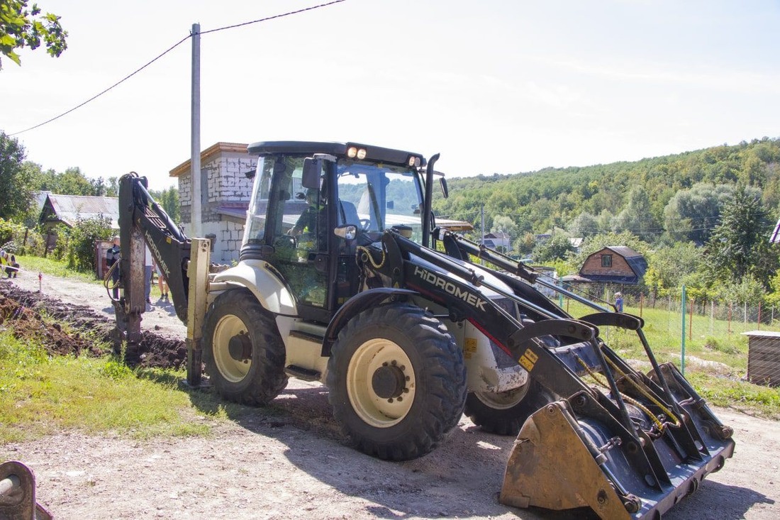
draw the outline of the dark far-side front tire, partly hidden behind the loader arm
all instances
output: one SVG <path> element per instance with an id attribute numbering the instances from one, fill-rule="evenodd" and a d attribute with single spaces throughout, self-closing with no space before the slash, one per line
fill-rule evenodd
<path id="1" fill-rule="evenodd" d="M 516 390 L 469 392 L 464 413 L 475 425 L 497 435 L 517 435 L 534 411 L 555 401 L 538 383 L 529 380 Z"/>

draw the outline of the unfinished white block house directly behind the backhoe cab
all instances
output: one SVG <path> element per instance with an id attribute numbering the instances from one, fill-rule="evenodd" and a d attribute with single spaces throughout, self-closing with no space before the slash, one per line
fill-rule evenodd
<path id="1" fill-rule="evenodd" d="M 246 176 L 257 166 L 247 144 L 219 142 L 200 152 L 200 222 L 205 238 L 211 238 L 211 258 L 229 263 L 239 259 L 246 210 L 253 180 Z M 170 171 L 179 180 L 179 205 L 186 233 L 193 236 L 192 179 L 190 161 Z M 452 231 L 473 230 L 470 223 L 436 219 L 437 226 Z"/>

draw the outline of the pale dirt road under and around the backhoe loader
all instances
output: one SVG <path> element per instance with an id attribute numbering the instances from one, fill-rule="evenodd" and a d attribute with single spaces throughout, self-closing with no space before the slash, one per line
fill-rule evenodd
<path id="1" fill-rule="evenodd" d="M 38 289 L 33 276 L 12 283 Z M 42 288 L 113 319 L 100 286 L 44 276 Z M 169 305 L 143 325 L 179 339 L 186 332 Z M 735 429 L 735 458 L 664 518 L 780 517 L 780 424 L 717 413 Z M 148 442 L 60 433 L 0 446 L 0 461 L 33 468 L 38 500 L 55 518 L 562 518 L 498 504 L 513 439 L 465 417 L 434 453 L 378 461 L 346 446 L 322 386 L 291 380 L 268 408 L 214 427 L 209 437 Z"/>

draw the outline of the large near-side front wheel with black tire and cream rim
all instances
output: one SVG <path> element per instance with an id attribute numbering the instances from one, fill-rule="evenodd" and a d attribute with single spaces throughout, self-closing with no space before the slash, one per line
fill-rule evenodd
<path id="1" fill-rule="evenodd" d="M 328 388 L 333 415 L 360 451 L 392 461 L 421 457 L 463 415 L 463 351 L 419 307 L 371 308 L 339 333 Z"/>

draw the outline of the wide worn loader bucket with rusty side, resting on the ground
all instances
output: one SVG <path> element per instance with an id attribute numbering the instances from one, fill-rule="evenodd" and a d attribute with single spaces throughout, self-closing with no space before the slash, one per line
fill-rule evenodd
<path id="1" fill-rule="evenodd" d="M 555 401 L 520 430 L 499 501 L 519 508 L 590 508 L 601 518 L 661 518 L 697 490 L 732 456 L 732 430 L 674 366 L 659 368 L 678 399 L 679 426 L 656 438 L 639 427 L 634 435 L 590 392 Z"/>

